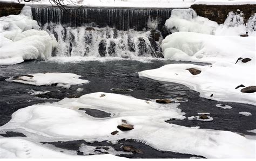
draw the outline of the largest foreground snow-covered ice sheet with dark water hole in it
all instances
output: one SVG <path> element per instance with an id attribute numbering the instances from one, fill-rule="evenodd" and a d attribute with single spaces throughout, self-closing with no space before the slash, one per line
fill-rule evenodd
<path id="1" fill-rule="evenodd" d="M 105 95 L 105 96 L 102 96 Z M 159 104 L 131 96 L 92 93 L 77 99 L 37 104 L 17 110 L 0 130 L 19 131 L 34 142 L 85 139 L 86 142 L 137 139 L 158 150 L 191 153 L 207 158 L 254 158 L 255 141 L 230 131 L 187 128 L 166 123 L 184 119 L 178 103 Z M 95 118 L 79 108 L 111 113 Z M 122 124 L 134 125 L 130 131 L 110 133 Z"/>

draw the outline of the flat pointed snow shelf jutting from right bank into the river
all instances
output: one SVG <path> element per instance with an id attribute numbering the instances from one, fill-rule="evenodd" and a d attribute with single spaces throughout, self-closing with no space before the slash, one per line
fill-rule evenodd
<path id="1" fill-rule="evenodd" d="M 158 69 L 139 72 L 144 76 L 159 81 L 181 83 L 200 92 L 200 96 L 218 101 L 255 103 L 256 93 L 241 93 L 243 83 L 255 85 L 255 61 L 251 65 L 238 65 L 229 62 L 216 62 L 213 65 L 199 66 L 192 64 L 171 64 Z M 254 68 L 253 68 L 254 67 Z M 201 71 L 192 75 L 187 69 L 196 68 Z M 213 96 L 211 96 L 213 94 Z"/>

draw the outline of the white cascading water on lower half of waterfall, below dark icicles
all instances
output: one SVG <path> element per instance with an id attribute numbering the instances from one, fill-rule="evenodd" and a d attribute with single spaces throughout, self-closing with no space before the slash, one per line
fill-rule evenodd
<path id="1" fill-rule="evenodd" d="M 160 57 L 160 40 L 151 31 L 118 31 L 110 27 L 65 27 L 46 23 L 43 30 L 53 34 L 58 46 L 53 56 L 80 57 Z"/>

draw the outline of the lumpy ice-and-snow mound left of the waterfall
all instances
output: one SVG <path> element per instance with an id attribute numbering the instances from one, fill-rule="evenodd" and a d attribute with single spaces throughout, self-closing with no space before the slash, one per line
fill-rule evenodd
<path id="1" fill-rule="evenodd" d="M 1 17 L 0 22 L 0 65 L 51 57 L 56 40 L 39 31 L 30 6 L 24 6 L 19 15 Z"/>

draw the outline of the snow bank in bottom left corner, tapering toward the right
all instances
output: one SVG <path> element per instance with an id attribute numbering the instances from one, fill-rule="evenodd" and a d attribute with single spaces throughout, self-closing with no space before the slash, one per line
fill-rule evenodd
<path id="1" fill-rule="evenodd" d="M 75 156 L 44 148 L 22 138 L 0 138 L 0 158 L 121 159 L 113 155 Z"/>

